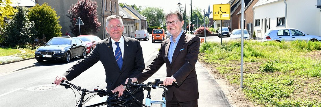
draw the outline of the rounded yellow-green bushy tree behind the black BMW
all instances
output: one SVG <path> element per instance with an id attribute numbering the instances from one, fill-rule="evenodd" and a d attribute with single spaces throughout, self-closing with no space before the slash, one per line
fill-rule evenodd
<path id="1" fill-rule="evenodd" d="M 36 4 L 35 7 L 29 9 L 28 13 L 29 21 L 35 22 L 35 28 L 38 31 L 36 37 L 43 38 L 43 34 L 46 36 L 47 41 L 53 37 L 61 36 L 61 26 L 59 25 L 59 18 L 56 11 L 48 6 L 47 3 Z"/>

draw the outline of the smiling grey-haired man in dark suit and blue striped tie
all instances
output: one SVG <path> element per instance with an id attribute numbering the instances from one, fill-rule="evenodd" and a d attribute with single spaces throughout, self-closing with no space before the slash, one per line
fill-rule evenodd
<path id="1" fill-rule="evenodd" d="M 122 35 L 124 31 L 121 17 L 108 16 L 106 30 L 110 38 L 101 40 L 85 58 L 78 61 L 62 76 L 57 76 L 54 84 L 59 85 L 62 80 L 71 81 L 82 72 L 101 61 L 106 72 L 107 89 L 113 93 L 119 92 L 120 97 L 125 91 L 125 79 L 135 77 L 145 67 L 142 47 L 139 40 Z M 136 93 L 136 98 L 143 101 L 143 90 Z M 142 106 L 135 102 L 134 107 Z"/>

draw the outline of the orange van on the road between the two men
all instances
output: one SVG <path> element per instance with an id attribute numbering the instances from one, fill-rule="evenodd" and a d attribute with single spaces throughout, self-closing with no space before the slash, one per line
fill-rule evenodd
<path id="1" fill-rule="evenodd" d="M 152 43 L 155 41 L 164 41 L 167 39 L 164 29 L 153 29 L 152 31 Z"/>

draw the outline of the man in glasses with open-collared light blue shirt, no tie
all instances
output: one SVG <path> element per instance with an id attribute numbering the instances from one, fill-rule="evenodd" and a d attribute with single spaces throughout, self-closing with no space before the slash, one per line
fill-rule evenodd
<path id="1" fill-rule="evenodd" d="M 182 30 L 184 24 L 180 12 L 169 12 L 165 15 L 167 30 L 172 34 L 170 39 L 161 43 L 157 57 L 145 68 L 143 73 L 132 78 L 144 82 L 165 63 L 167 77 L 163 84 L 168 88 L 166 107 L 197 107 L 198 84 L 195 63 L 200 47 L 200 38 Z M 126 80 L 126 83 L 128 78 Z M 177 85 L 172 85 L 172 83 Z"/>

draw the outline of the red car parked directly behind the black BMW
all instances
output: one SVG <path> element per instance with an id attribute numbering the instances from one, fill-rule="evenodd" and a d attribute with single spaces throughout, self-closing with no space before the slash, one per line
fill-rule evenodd
<path id="1" fill-rule="evenodd" d="M 101 40 L 95 35 L 79 35 L 77 38 L 86 43 L 86 54 L 89 54 L 96 47 L 97 41 Z"/>

